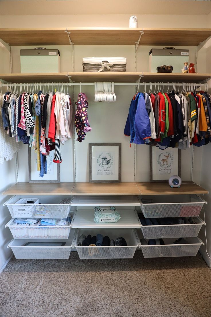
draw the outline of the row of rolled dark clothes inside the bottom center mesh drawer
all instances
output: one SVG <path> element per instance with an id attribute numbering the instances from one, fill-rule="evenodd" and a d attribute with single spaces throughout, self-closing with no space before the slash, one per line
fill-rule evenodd
<path id="1" fill-rule="evenodd" d="M 109 246 L 127 246 L 127 242 L 123 237 L 111 239 L 108 236 L 102 236 L 98 233 L 96 236 L 81 235 L 78 238 L 78 247 L 109 247 Z"/>

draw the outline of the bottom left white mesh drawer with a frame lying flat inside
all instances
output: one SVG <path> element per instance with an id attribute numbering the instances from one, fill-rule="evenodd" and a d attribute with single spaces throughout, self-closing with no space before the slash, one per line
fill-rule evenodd
<path id="1" fill-rule="evenodd" d="M 71 230 L 68 240 L 65 241 L 54 239 L 48 241 L 44 239 L 39 241 L 36 239 L 13 239 L 7 247 L 12 249 L 16 259 L 68 259 L 73 245 L 73 238 L 74 230 Z M 65 245 L 62 245 L 64 243 Z"/>

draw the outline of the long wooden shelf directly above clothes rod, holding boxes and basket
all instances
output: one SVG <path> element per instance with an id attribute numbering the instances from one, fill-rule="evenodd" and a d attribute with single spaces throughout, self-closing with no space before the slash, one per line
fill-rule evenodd
<path id="1" fill-rule="evenodd" d="M 141 77 L 141 82 L 204 82 L 211 74 L 179 74 L 179 73 L 44 73 L 44 74 L 0 74 L 0 79 L 6 82 L 69 82 L 67 74 L 73 82 L 136 82 Z M 142 75 L 143 74 L 143 75 Z"/>

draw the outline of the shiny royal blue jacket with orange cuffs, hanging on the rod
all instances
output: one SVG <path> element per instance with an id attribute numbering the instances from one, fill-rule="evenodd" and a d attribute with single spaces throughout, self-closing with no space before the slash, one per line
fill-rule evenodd
<path id="1" fill-rule="evenodd" d="M 144 94 L 138 93 L 131 100 L 129 114 L 127 117 L 125 135 L 130 135 L 130 143 L 145 144 L 151 137 L 151 126 L 149 115 L 146 110 Z"/>

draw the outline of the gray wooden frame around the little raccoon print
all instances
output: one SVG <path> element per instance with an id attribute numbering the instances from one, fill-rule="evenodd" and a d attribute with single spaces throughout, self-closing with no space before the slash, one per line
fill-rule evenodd
<path id="1" fill-rule="evenodd" d="M 118 180 L 92 180 L 92 146 L 118 146 L 119 147 Z M 89 182 L 90 183 L 121 183 L 121 143 L 89 143 Z"/>

